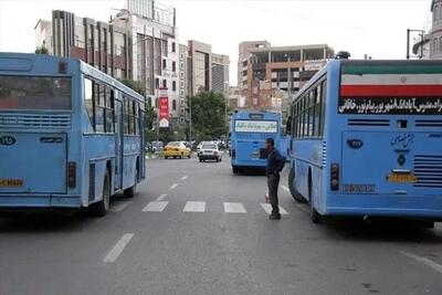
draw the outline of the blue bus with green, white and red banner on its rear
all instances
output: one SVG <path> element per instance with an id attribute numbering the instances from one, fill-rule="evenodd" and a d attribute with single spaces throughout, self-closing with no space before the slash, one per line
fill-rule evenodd
<path id="1" fill-rule="evenodd" d="M 442 62 L 334 60 L 291 105 L 288 186 L 323 215 L 442 219 Z M 290 126 L 288 126 L 290 125 Z"/>

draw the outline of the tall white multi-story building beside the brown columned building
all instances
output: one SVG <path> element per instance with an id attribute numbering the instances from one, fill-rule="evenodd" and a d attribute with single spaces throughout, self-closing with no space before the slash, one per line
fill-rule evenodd
<path id="1" fill-rule="evenodd" d="M 158 96 L 167 88 L 172 125 L 179 120 L 179 44 L 176 10 L 154 0 L 127 0 L 110 23 L 125 28 L 131 40 L 133 77 L 146 85 L 146 93 Z M 157 104 L 156 104 L 157 105 Z"/>

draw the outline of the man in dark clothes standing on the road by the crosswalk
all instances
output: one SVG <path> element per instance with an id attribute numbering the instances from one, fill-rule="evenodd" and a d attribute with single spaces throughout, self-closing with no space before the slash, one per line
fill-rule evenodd
<path id="1" fill-rule="evenodd" d="M 267 187 L 270 203 L 272 204 L 272 214 L 269 217 L 271 220 L 280 220 L 280 206 L 277 201 L 277 188 L 280 186 L 280 172 L 283 170 L 285 159 L 281 156 L 280 151 L 275 148 L 275 140 L 273 138 L 265 139 L 265 148 L 267 150 Z"/>

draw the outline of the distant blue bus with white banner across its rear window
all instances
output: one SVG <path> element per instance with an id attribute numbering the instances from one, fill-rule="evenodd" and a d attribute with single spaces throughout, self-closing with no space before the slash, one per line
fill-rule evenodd
<path id="1" fill-rule="evenodd" d="M 231 165 L 233 173 L 266 166 L 265 138 L 280 146 L 281 113 L 235 110 L 231 115 Z"/>

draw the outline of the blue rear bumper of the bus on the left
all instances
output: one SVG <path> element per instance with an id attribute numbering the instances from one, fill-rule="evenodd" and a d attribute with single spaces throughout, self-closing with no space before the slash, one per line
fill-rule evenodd
<path id="1" fill-rule="evenodd" d="M 81 208 L 81 196 L 71 194 L 0 194 L 0 210 L 11 208 Z"/>

